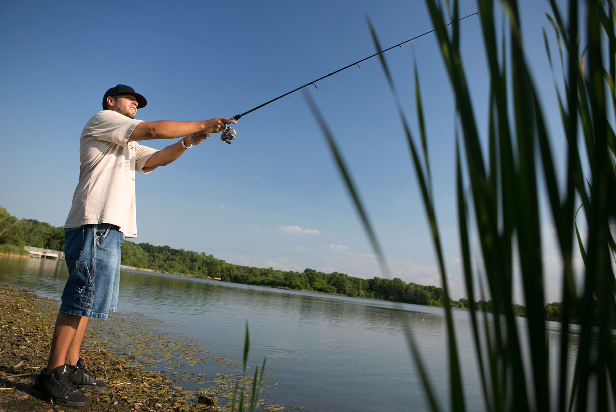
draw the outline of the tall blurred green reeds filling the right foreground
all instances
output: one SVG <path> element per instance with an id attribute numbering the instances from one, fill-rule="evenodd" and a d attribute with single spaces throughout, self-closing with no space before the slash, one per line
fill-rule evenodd
<path id="1" fill-rule="evenodd" d="M 584 7 L 577 0 L 570 0 L 565 13 L 554 0 L 549 2 L 551 16 L 548 19 L 557 35 L 565 73 L 562 84 L 556 82 L 564 90 L 562 95 L 559 93 L 560 107 L 553 109 L 561 112 L 567 143 L 564 159 L 567 169 L 562 189 L 557 184 L 543 108 L 524 56 L 517 2 L 503 2 L 507 19 L 499 35 L 495 29 L 492 0 L 477 0 L 490 70 L 488 152 L 484 154 L 460 56 L 458 1 L 453 1 L 452 5 L 448 0 L 445 4 L 426 0 L 456 102 L 455 179 L 466 292 L 471 301 L 481 295 L 494 303 L 490 323 L 485 313 L 482 315 L 486 325 L 483 329 L 479 327 L 480 314 L 474 310 L 472 302 L 470 311 L 481 385 L 489 411 L 606 411 L 610 402 L 614 404 L 616 394 L 616 346 L 612 333 L 616 319 L 616 282 L 612 270 L 616 245 L 609 229 L 616 218 L 616 139 L 609 121 L 616 114 L 616 10 L 614 0 L 587 0 Z M 578 32 L 578 15 L 582 13 L 585 13 L 584 37 L 588 42 L 587 46 L 583 45 L 586 49 L 583 66 Z M 451 28 L 447 27 L 446 20 L 453 22 Z M 381 50 L 375 30 L 372 27 L 370 30 L 376 49 Z M 552 63 L 548 37 L 544 35 Z M 416 112 L 421 146 L 408 126 L 386 60 L 383 54 L 379 57 L 410 148 L 442 279 L 452 410 L 464 411 L 463 371 L 458 361 L 447 271 L 432 195 L 428 138 L 417 70 L 415 68 Z M 306 100 L 328 141 L 375 252 L 381 257 L 381 267 L 387 271 L 375 232 L 336 142 L 307 94 Z M 585 150 L 578 147 L 580 138 Z M 582 170 L 582 155 L 586 155 L 584 163 L 588 164 L 586 175 Z M 545 179 L 549 211 L 556 226 L 563 262 L 563 322 L 556 359 L 549 357 L 544 309 L 540 179 Z M 468 186 L 469 192 L 465 190 Z M 576 202 L 581 204 L 578 210 L 588 223 L 586 244 L 575 225 Z M 474 215 L 472 220 L 468 218 L 469 213 Z M 471 233 L 476 233 L 480 250 L 471 250 Z M 574 247 L 580 249 L 585 263 L 581 295 L 577 294 L 573 279 Z M 479 268 L 471 265 L 473 255 L 482 258 Z M 519 267 L 527 307 L 527 342 L 522 342 L 512 309 L 514 267 Z M 573 369 L 568 362 L 572 312 L 578 314 L 581 326 Z M 439 405 L 413 335 L 408 325 L 404 327 L 428 401 L 432 410 L 438 411 Z M 529 353 L 522 352 L 524 347 L 529 348 Z M 530 368 L 524 367 L 525 358 L 530 359 Z M 558 366 L 556 376 L 549 374 L 550 362 Z M 552 397 L 554 388 L 557 393 Z"/>

